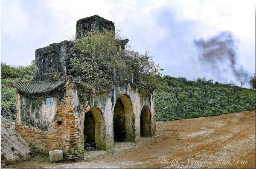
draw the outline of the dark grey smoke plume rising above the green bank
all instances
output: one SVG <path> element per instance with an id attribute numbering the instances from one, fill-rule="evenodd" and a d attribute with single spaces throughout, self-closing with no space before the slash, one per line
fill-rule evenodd
<path id="1" fill-rule="evenodd" d="M 198 59 L 202 64 L 207 64 L 209 71 L 221 76 L 224 73 L 221 68 L 231 69 L 233 75 L 239 78 L 248 73 L 237 63 L 236 42 L 238 40 L 234 39 L 230 31 L 221 31 L 209 39 L 194 40 L 198 48 Z M 248 82 L 248 77 L 243 77 L 242 82 Z"/>

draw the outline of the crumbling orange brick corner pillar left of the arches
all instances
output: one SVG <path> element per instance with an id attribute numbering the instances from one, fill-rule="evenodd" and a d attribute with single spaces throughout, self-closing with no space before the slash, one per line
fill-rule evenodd
<path id="1" fill-rule="evenodd" d="M 79 123 L 79 117 L 75 115 L 73 106 L 73 90 L 74 85 L 68 85 L 64 98 L 57 106 L 58 121 L 55 122 L 56 125 L 54 126 L 54 132 L 56 132 L 56 135 L 59 135 L 59 144 L 53 144 L 53 146 L 51 146 L 51 144 L 49 144 L 51 143 L 51 140 L 48 141 L 48 151 L 59 146 L 59 149 L 63 150 L 64 158 L 67 159 L 84 157 L 84 133 Z M 81 118 L 84 118 L 84 113 L 81 115 Z"/>

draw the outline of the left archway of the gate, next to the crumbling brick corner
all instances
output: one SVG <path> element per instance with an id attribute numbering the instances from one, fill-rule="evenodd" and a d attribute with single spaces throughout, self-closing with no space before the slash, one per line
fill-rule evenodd
<path id="1" fill-rule="evenodd" d="M 106 150 L 105 118 L 99 107 L 91 107 L 84 114 L 84 148 L 92 146 L 96 149 Z"/>

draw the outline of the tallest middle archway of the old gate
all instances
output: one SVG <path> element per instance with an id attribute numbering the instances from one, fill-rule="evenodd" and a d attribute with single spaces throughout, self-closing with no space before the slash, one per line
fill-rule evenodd
<path id="1" fill-rule="evenodd" d="M 134 112 L 131 99 L 122 94 L 116 100 L 113 112 L 114 141 L 134 141 Z"/>

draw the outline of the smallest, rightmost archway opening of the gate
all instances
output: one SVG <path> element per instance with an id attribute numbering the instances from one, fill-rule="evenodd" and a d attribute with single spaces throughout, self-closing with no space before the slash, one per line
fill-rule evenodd
<path id="1" fill-rule="evenodd" d="M 140 136 L 151 136 L 151 115 L 148 106 L 143 106 L 140 113 Z"/>

